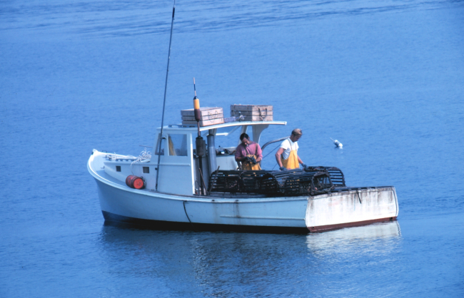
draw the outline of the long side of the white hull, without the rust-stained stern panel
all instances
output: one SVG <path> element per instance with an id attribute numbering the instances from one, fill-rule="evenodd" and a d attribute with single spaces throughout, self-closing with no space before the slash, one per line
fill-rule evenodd
<path id="1" fill-rule="evenodd" d="M 238 227 L 254 227 L 253 230 L 294 228 L 307 232 L 304 216 L 308 197 L 261 200 L 186 197 L 132 190 L 129 187 L 126 191 L 98 179 L 96 181 L 99 187 L 101 210 L 106 220 L 143 223 L 160 228 L 194 227 L 211 230 L 237 230 Z"/>

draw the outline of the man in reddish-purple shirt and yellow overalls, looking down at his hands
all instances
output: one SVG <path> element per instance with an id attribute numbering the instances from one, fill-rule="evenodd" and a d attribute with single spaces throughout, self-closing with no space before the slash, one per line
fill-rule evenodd
<path id="1" fill-rule="evenodd" d="M 263 151 L 258 143 L 250 140 L 246 133 L 240 135 L 242 143 L 236 148 L 236 162 L 242 163 L 242 170 L 261 170 L 259 162 L 263 159 Z"/>

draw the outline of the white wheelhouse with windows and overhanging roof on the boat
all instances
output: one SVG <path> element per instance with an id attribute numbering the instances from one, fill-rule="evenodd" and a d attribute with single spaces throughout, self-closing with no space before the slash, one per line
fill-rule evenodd
<path id="1" fill-rule="evenodd" d="M 232 138 L 236 133 L 248 133 L 251 140 L 259 143 L 261 133 L 269 125 L 286 125 L 285 121 L 235 121 L 200 128 L 201 136 L 206 140 L 206 156 L 196 155 L 195 139 L 198 136 L 196 125 L 166 125 L 157 128 L 156 140 L 153 144 L 151 159 L 134 163 L 135 157 L 120 155 L 105 163 L 105 172 L 124 180 L 128 175 L 137 175 L 146 182 L 146 190 L 156 190 L 156 171 L 158 171 L 158 192 L 176 195 L 196 195 L 201 193 L 201 182 L 208 189 L 208 181 L 213 171 L 236 170 L 236 146 L 238 138 Z M 221 143 L 216 144 L 218 137 Z M 162 142 L 161 142 L 162 140 Z M 159 148 L 161 142 L 161 150 Z M 159 151 L 159 152 L 158 152 Z M 158 155 L 160 158 L 158 169 Z"/>

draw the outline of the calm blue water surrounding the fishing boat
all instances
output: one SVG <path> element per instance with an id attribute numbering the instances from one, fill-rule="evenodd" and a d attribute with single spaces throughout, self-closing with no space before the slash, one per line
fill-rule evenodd
<path id="1" fill-rule="evenodd" d="M 104 224 L 86 161 L 153 144 L 172 4 L 0 1 L 0 297 L 463 297 L 464 1 L 177 1 L 166 123 L 195 77 L 396 187 L 397 222 L 316 235 Z"/>

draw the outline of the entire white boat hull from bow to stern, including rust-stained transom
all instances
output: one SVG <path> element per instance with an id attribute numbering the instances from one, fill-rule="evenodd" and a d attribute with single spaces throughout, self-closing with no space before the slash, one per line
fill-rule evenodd
<path id="1" fill-rule="evenodd" d="M 247 232 L 308 232 L 309 229 L 318 232 L 347 224 L 362 224 L 366 218 L 371 222 L 394 220 L 398 215 L 396 195 L 383 195 L 383 192 L 394 193 L 393 187 L 375 191 L 359 190 L 362 204 L 353 203 L 353 191 L 350 190 L 312 197 L 173 195 L 128 187 L 123 181 L 107 175 L 102 170 L 103 163 L 104 154 L 94 150 L 88 169 L 96 179 L 105 220 L 114 222 L 137 223 L 161 229 Z M 379 193 L 380 197 L 385 196 L 390 205 L 385 206 L 383 200 L 370 197 L 371 194 L 379 197 Z M 392 211 L 392 204 L 396 206 L 395 212 Z M 363 210 L 369 212 L 368 217 L 364 216 Z"/>

